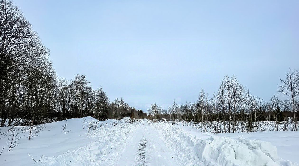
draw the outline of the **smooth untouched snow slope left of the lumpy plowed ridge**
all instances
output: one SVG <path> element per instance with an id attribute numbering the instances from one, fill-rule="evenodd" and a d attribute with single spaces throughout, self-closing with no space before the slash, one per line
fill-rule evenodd
<path id="1" fill-rule="evenodd" d="M 85 121 L 96 120 L 92 117 L 72 118 L 64 121 L 57 121 L 45 124 L 45 127 L 36 133 L 35 137 L 28 140 L 29 131 L 27 127 L 16 127 L 17 137 L 21 137 L 18 141 L 18 146 L 11 151 L 5 142 L 10 138 L 11 127 L 0 127 L 0 147 L 4 150 L 0 156 L 2 165 L 24 166 L 33 165 L 35 163 L 28 153 L 36 160 L 44 154 L 47 156 L 57 156 L 66 150 L 75 150 L 78 147 L 85 146 L 96 138 L 86 137 L 87 127 L 83 129 L 83 119 Z M 62 126 L 66 125 L 66 130 L 70 130 L 67 134 L 62 133 Z M 87 124 L 86 124 L 87 125 Z M 40 126 L 40 125 L 39 125 Z M 7 132 L 8 131 L 8 132 Z"/>

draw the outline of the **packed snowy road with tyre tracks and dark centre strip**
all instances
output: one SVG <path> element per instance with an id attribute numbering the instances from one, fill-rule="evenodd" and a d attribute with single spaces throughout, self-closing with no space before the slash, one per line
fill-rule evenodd
<path id="1" fill-rule="evenodd" d="M 179 166 L 180 164 L 161 131 L 145 124 L 131 133 L 126 144 L 119 148 L 109 161 L 109 165 Z"/>

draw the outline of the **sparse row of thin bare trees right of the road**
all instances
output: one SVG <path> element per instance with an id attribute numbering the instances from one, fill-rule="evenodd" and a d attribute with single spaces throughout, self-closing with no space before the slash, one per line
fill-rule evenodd
<path id="1" fill-rule="evenodd" d="M 263 102 L 245 89 L 235 75 L 226 75 L 212 96 L 201 89 L 196 102 L 179 104 L 174 100 L 164 109 L 153 103 L 148 113 L 151 119 L 158 121 L 163 118 L 173 124 L 193 121 L 204 131 L 215 133 L 298 131 L 299 70 L 289 69 L 286 78 L 280 79 L 277 92 L 286 99 L 280 100 L 273 95 L 270 101 Z"/>

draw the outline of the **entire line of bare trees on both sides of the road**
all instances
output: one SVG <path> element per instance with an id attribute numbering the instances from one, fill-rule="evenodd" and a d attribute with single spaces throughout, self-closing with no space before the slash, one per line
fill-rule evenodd
<path id="1" fill-rule="evenodd" d="M 196 102 L 179 104 L 174 100 L 164 109 L 154 103 L 147 116 L 123 98 L 110 102 L 103 88 L 93 89 L 85 75 L 77 74 L 72 80 L 57 78 L 49 50 L 31 27 L 15 4 L 0 1 L 0 127 L 6 122 L 8 126 L 33 125 L 84 116 L 130 116 L 165 118 L 172 123 L 193 121 L 204 130 L 224 133 L 261 130 L 265 121 L 272 130 L 299 130 L 298 70 L 289 70 L 280 80 L 278 93 L 285 100 L 273 95 L 263 102 L 233 75 L 225 76 L 211 96 L 202 89 Z"/>

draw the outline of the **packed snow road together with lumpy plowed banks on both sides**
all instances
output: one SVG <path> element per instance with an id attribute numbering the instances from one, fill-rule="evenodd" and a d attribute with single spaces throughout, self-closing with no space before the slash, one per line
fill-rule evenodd
<path id="1" fill-rule="evenodd" d="M 280 159 L 276 147 L 269 142 L 223 136 L 197 138 L 176 126 L 146 119 L 130 123 L 127 118 L 114 126 L 109 123 L 87 136 L 97 138 L 88 145 L 58 156 L 45 155 L 34 165 L 299 166 Z"/>

